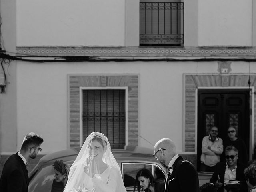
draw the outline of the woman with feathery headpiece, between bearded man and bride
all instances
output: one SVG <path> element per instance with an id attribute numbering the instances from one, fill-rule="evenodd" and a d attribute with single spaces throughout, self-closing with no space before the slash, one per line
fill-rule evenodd
<path id="1" fill-rule="evenodd" d="M 63 160 L 55 160 L 52 166 L 54 168 L 55 179 L 52 183 L 51 192 L 63 192 L 67 184 L 70 167 L 67 164 L 63 163 Z"/>

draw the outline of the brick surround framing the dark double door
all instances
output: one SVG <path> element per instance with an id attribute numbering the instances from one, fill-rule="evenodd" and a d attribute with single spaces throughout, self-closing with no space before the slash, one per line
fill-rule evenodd
<path id="1" fill-rule="evenodd" d="M 249 74 L 184 74 L 184 123 L 185 123 L 185 152 L 196 152 L 196 89 L 204 88 L 246 88 Z M 256 86 L 256 74 L 250 74 L 250 87 Z M 254 97 L 254 124 L 256 121 L 256 97 Z M 254 143 L 256 142 L 254 130 Z"/>

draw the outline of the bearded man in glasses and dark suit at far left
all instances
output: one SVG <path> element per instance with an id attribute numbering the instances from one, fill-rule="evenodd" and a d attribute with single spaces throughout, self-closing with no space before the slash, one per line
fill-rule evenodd
<path id="1" fill-rule="evenodd" d="M 35 133 L 29 133 L 24 137 L 19 152 L 8 158 L 4 164 L 0 179 L 0 191 L 3 192 L 28 192 L 27 162 L 30 158 L 42 150 L 41 143 L 44 140 Z"/>

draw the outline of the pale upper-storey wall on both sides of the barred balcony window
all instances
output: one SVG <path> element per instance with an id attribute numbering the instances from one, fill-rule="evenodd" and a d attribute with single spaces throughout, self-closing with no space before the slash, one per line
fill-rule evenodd
<path id="1" fill-rule="evenodd" d="M 183 0 L 185 46 L 252 46 L 252 0 Z M 17 1 L 17 46 L 138 46 L 139 0 Z"/>

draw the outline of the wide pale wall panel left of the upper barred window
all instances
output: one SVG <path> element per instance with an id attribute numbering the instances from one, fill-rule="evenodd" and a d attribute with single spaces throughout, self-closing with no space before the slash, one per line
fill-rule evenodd
<path id="1" fill-rule="evenodd" d="M 124 0 L 18 0 L 17 46 L 124 46 Z"/>

